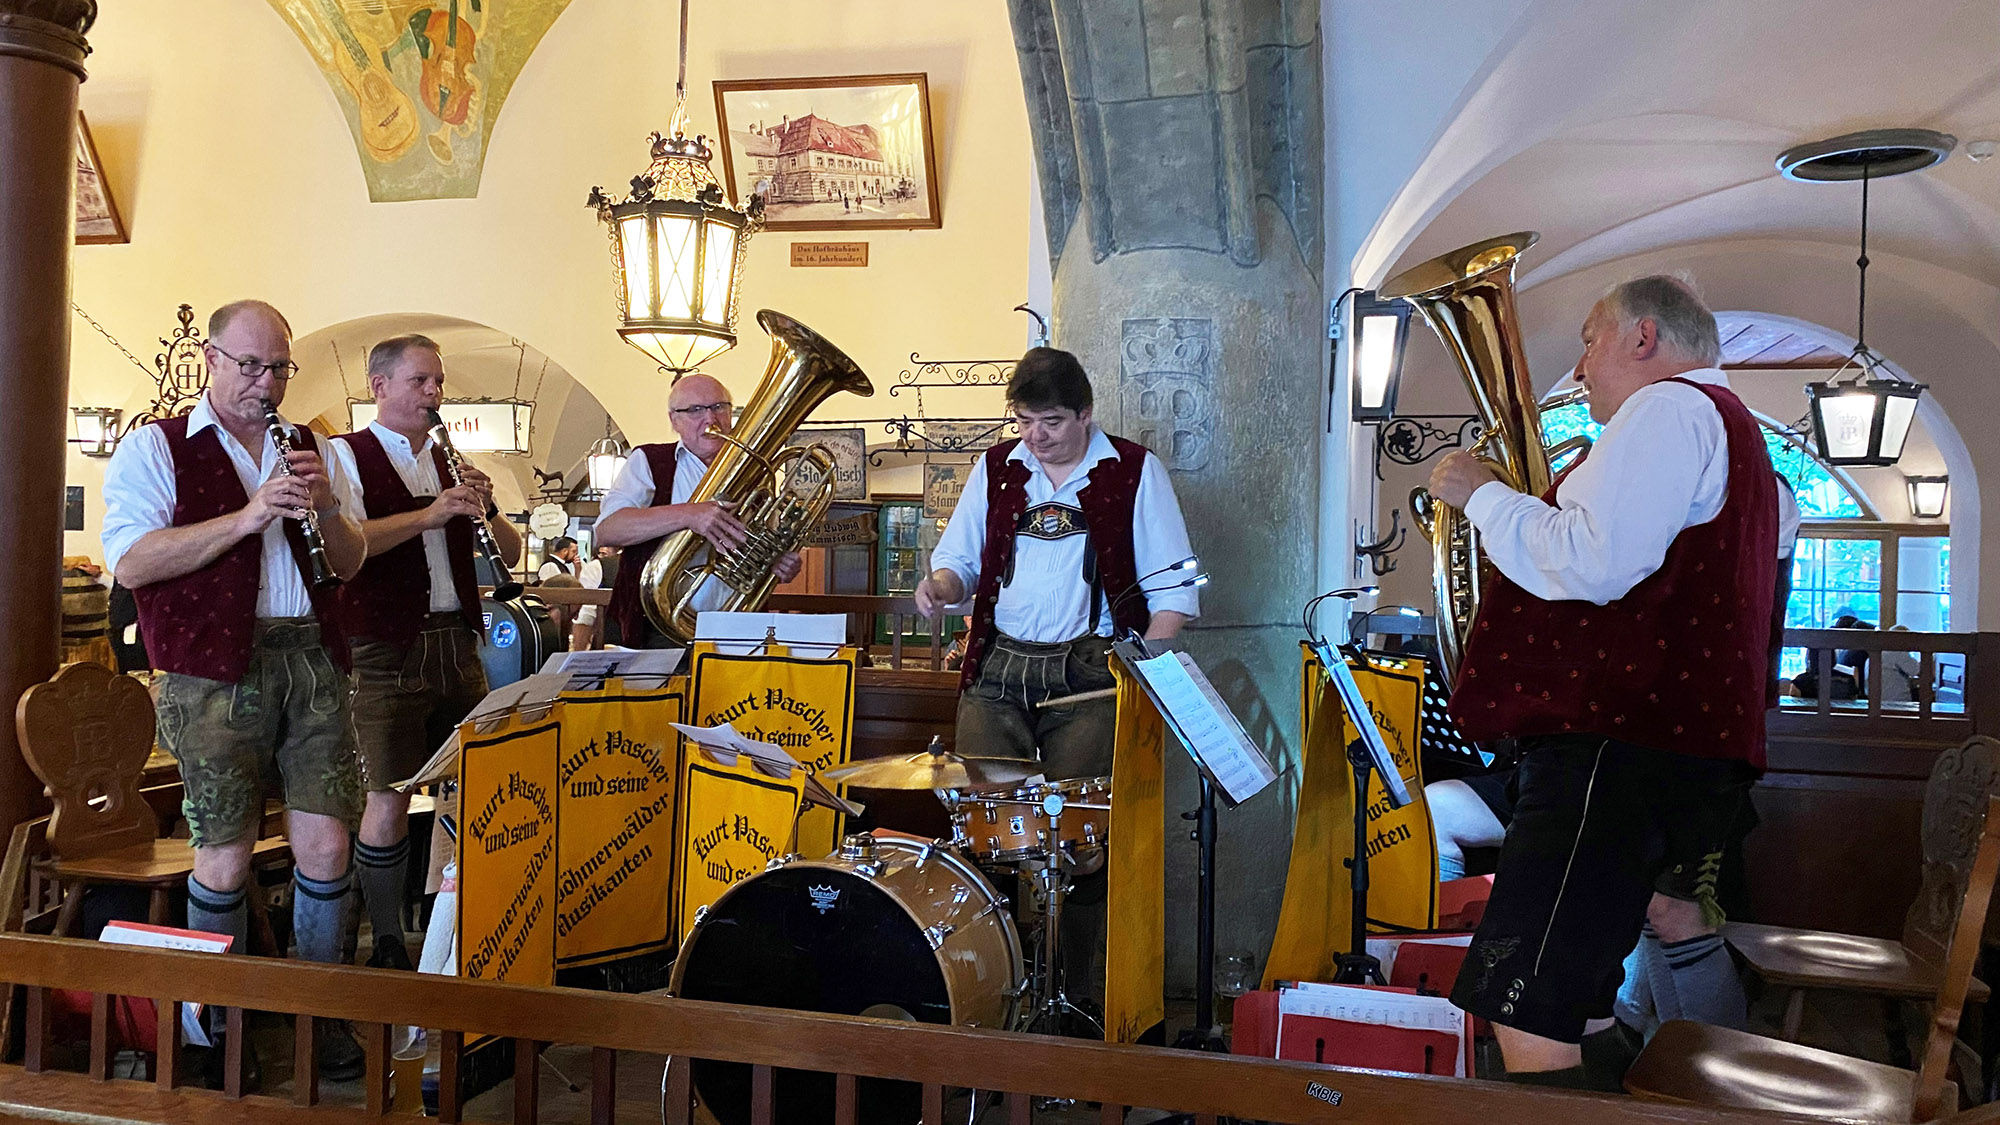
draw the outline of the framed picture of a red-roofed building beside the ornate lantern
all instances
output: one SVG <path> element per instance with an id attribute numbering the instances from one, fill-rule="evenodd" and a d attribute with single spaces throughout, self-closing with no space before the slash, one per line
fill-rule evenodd
<path id="1" fill-rule="evenodd" d="M 722 174 L 770 230 L 920 230 L 938 214 L 922 74 L 716 82 Z"/>

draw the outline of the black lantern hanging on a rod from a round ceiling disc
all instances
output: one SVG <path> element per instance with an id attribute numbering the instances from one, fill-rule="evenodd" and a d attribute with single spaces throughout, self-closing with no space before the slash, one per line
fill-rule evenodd
<path id="1" fill-rule="evenodd" d="M 1854 352 L 1826 382 L 1806 384 L 1812 440 L 1828 464 L 1896 464 L 1916 418 L 1922 382 L 1892 372 L 1868 346 L 1868 184 L 1930 168 L 1950 156 L 1958 138 L 1928 128 L 1874 128 L 1786 148 L 1778 170 L 1808 184 L 1862 182 L 1860 300 L 1854 318 Z M 1852 372 L 1850 378 L 1842 378 Z"/>

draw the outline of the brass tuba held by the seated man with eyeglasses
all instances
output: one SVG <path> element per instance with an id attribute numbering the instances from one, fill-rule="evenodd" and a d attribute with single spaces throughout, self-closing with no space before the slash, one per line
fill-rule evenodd
<path id="1" fill-rule="evenodd" d="M 862 368 L 818 332 L 770 308 L 756 314 L 770 332 L 770 364 L 750 394 L 734 434 L 722 438 L 708 474 L 688 496 L 734 502 L 736 518 L 750 530 L 738 550 L 720 550 L 696 530 L 676 530 L 660 542 L 640 573 L 640 605 L 654 629 L 686 645 L 694 639 L 694 595 L 708 581 L 728 589 L 722 605 L 708 609 L 754 611 L 770 597 L 780 556 L 798 550 L 834 502 L 834 456 L 822 444 L 786 442 L 814 406 L 846 390 L 874 394 Z"/>

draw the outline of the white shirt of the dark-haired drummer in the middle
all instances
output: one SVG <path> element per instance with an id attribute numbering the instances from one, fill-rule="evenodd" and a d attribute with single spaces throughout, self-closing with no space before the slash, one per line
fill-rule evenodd
<path id="1" fill-rule="evenodd" d="M 1028 466 L 1030 508 L 1048 502 L 1080 508 L 1076 494 L 1090 482 L 1090 470 L 1100 460 L 1116 456 L 1118 450 L 1104 436 L 1104 430 L 1090 426 L 1090 444 L 1084 448 L 1084 460 L 1064 476 L 1062 484 L 1050 482 L 1048 472 L 1028 452 L 1026 442 L 1016 444 L 1008 460 L 1020 460 Z M 994 601 L 994 627 L 1018 641 L 1042 645 L 1074 641 L 1084 633 L 1110 637 L 1112 599 L 1124 595 L 1124 591 L 1104 591 L 1104 605 L 1098 611 L 1098 621 L 1092 625 L 1090 587 L 1084 583 L 1086 546 L 1088 536 L 1084 534 L 1070 534 L 1066 538 L 1014 536 L 1014 579 L 1000 587 L 1000 597 Z M 980 583 L 980 558 L 984 550 L 986 458 L 980 456 L 966 478 L 966 490 L 958 496 L 958 508 L 952 510 L 952 522 L 946 524 L 936 550 L 930 552 L 930 569 L 956 573 L 966 585 L 970 601 Z M 1138 498 L 1132 504 L 1132 556 L 1138 565 L 1136 573 L 1142 577 L 1142 589 L 1152 591 L 1146 595 L 1146 609 L 1150 613 L 1174 611 L 1200 617 L 1202 607 L 1194 587 L 1154 591 L 1154 587 L 1168 587 L 1188 577 L 1186 573 L 1170 571 L 1144 579 L 1190 554 L 1194 550 L 1188 548 L 1188 524 L 1180 516 L 1174 484 L 1166 478 L 1166 466 L 1160 464 L 1160 458 L 1148 452 L 1146 466 L 1138 478 Z"/>

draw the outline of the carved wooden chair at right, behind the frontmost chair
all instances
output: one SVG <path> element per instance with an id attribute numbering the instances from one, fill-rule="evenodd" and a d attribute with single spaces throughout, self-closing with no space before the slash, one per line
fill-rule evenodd
<path id="1" fill-rule="evenodd" d="M 1938 995 L 1944 949 L 1980 841 L 1980 817 L 1994 793 L 2000 793 L 2000 743 L 1974 735 L 1938 755 L 1924 787 L 1922 885 L 1904 917 L 1902 941 L 1750 923 L 1722 927 L 1722 937 L 1752 973 L 1792 989 L 1784 1009 L 1786 1039 L 1798 1039 L 1806 993 L 1814 989 L 1878 995 L 1890 1003 Z M 1972 1003 L 1988 995 L 1986 983 L 1974 977 Z"/>

